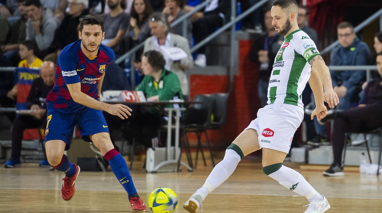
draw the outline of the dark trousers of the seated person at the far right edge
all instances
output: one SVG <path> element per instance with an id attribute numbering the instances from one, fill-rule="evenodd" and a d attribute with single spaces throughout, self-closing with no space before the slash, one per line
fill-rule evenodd
<path id="1" fill-rule="evenodd" d="M 382 103 L 351 108 L 338 113 L 334 119 L 332 145 L 334 162 L 341 165 L 345 133 L 366 132 L 382 127 Z"/>

